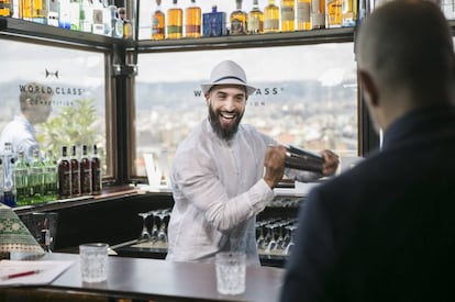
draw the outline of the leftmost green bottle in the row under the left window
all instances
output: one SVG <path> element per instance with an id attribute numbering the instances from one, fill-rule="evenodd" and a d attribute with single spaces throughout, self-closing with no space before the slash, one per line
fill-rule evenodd
<path id="1" fill-rule="evenodd" d="M 23 150 L 18 153 L 18 160 L 13 165 L 16 205 L 30 204 L 29 164 Z"/>

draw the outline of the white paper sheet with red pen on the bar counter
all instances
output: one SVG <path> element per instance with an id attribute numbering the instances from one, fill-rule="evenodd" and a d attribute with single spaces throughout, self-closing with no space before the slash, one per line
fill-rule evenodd
<path id="1" fill-rule="evenodd" d="M 68 260 L 1 260 L 0 287 L 48 284 L 73 264 L 74 261 Z M 30 271 L 34 272 L 11 278 L 11 276 Z M 10 276 L 10 278 L 8 278 L 8 276 Z"/>

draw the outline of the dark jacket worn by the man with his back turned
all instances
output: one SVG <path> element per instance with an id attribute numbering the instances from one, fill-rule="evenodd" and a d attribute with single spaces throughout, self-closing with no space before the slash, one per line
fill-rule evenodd
<path id="1" fill-rule="evenodd" d="M 425 108 L 310 192 L 281 301 L 455 301 L 454 264 L 455 110 Z"/>

